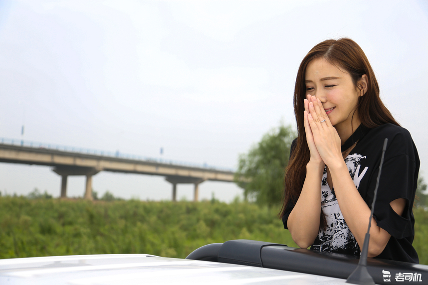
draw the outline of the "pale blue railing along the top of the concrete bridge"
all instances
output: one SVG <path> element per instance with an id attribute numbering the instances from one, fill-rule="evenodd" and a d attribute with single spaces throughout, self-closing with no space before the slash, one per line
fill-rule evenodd
<path id="1" fill-rule="evenodd" d="M 184 162 L 184 161 L 164 159 L 164 158 L 153 158 L 153 157 L 148 157 L 143 155 L 123 153 L 123 152 L 120 152 L 119 150 L 105 151 L 105 150 L 90 149 L 90 148 L 83 148 L 83 147 L 76 147 L 76 146 L 67 146 L 67 145 L 59 145 L 59 144 L 52 144 L 52 143 L 46 143 L 46 142 L 33 142 L 33 141 L 25 141 L 20 139 L 8 139 L 8 138 L 0 138 L 0 144 L 26 146 L 26 147 L 33 147 L 33 148 L 39 148 L 39 149 L 41 148 L 41 149 L 60 150 L 60 151 L 66 151 L 70 153 L 92 154 L 92 155 L 98 155 L 98 156 L 117 157 L 117 158 L 125 158 L 125 159 L 132 159 L 132 160 L 234 172 L 234 170 L 231 168 L 213 166 L 207 163 L 198 164 L 198 163 Z"/>

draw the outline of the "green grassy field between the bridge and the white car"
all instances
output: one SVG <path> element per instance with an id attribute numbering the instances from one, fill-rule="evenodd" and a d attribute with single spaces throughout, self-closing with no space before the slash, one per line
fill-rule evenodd
<path id="1" fill-rule="evenodd" d="M 218 201 L 144 202 L 0 197 L 0 258 L 147 253 L 185 258 L 233 239 L 296 247 L 278 208 Z M 415 209 L 414 246 L 428 264 L 428 212 Z"/>

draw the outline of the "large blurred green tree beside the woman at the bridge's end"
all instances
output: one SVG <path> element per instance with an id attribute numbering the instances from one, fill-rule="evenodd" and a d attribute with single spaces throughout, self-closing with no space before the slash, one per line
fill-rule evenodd
<path id="1" fill-rule="evenodd" d="M 284 188 L 284 169 L 288 164 L 290 146 L 296 133 L 281 124 L 263 136 L 246 154 L 239 155 L 235 182 L 244 189 L 245 200 L 258 204 L 280 203 Z"/>

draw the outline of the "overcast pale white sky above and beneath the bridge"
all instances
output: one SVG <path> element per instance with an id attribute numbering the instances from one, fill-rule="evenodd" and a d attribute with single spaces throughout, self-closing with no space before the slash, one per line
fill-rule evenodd
<path id="1" fill-rule="evenodd" d="M 297 68 L 318 42 L 365 51 L 428 178 L 428 1 L 0 0 L 0 137 L 235 168 L 262 135 L 295 125 Z M 21 126 L 25 133 L 21 136 Z M 427 179 L 426 179 L 427 180 Z M 84 177 L 70 176 L 68 196 Z M 60 194 L 47 166 L 0 163 L 0 191 Z M 100 195 L 171 199 L 163 177 L 100 172 Z M 232 183 L 200 197 L 230 201 Z M 179 184 L 178 198 L 193 199 Z"/>

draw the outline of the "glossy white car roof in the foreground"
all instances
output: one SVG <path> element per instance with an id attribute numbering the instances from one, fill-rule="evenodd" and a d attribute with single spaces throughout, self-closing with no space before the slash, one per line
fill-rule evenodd
<path id="1" fill-rule="evenodd" d="M 0 260 L 1 285 L 336 285 L 344 279 L 146 254 Z"/>

